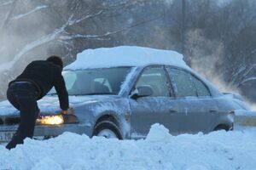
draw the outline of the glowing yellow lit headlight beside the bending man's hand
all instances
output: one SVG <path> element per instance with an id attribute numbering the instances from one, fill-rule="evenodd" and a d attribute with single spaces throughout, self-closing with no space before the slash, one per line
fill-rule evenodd
<path id="1" fill-rule="evenodd" d="M 64 118 L 62 115 L 40 116 L 37 119 L 37 123 L 44 125 L 60 125 L 64 123 Z"/>

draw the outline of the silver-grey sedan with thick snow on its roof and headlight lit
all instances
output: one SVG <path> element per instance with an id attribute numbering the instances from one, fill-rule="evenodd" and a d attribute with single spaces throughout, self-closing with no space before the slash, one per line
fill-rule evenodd
<path id="1" fill-rule="evenodd" d="M 249 111 L 235 94 L 222 94 L 174 51 L 141 47 L 88 49 L 64 68 L 73 115 L 60 114 L 52 89 L 38 101 L 34 136 L 63 132 L 141 139 L 151 125 L 179 133 L 231 130 L 236 111 Z M 20 121 L 8 101 L 0 103 L 0 140 L 8 141 Z"/>

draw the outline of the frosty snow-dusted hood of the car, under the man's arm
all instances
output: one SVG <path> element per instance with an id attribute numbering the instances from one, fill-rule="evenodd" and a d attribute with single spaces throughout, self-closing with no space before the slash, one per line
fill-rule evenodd
<path id="1" fill-rule="evenodd" d="M 117 95 L 91 95 L 91 96 L 69 96 L 69 105 L 76 107 L 79 105 L 90 105 L 97 102 L 110 101 L 119 99 Z M 48 95 L 38 100 L 38 107 L 41 114 L 57 114 L 60 113 L 60 104 L 57 95 Z M 15 109 L 8 100 L 0 102 L 0 116 L 17 116 L 19 111 Z"/>

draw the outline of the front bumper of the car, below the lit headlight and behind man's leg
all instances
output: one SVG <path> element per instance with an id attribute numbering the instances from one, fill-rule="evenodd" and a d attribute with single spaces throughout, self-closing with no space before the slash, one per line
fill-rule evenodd
<path id="1" fill-rule="evenodd" d="M 18 125 L 0 126 L 0 132 L 15 132 Z M 86 134 L 91 137 L 92 128 L 83 124 L 63 125 L 37 125 L 34 130 L 34 137 L 37 136 L 58 136 L 64 132 Z"/>

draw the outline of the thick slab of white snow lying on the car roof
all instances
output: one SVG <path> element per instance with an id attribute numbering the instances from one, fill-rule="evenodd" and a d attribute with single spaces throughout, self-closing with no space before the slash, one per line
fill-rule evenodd
<path id="1" fill-rule="evenodd" d="M 108 68 L 113 66 L 176 65 L 189 68 L 183 55 L 172 50 L 119 46 L 115 48 L 86 49 L 65 70 Z"/>

